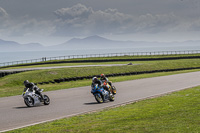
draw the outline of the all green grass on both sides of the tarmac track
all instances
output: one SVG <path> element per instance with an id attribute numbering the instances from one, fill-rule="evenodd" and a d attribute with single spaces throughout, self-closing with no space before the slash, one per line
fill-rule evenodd
<path id="1" fill-rule="evenodd" d="M 128 62 L 118 62 L 119 64 Z M 79 65 L 72 63 L 68 65 Z M 87 64 L 87 63 L 86 63 Z M 93 64 L 93 63 L 92 63 Z M 114 63 L 116 64 L 116 63 Z M 18 73 L 0 78 L 0 97 L 13 96 L 22 93 L 23 81 L 49 81 L 55 78 L 109 74 L 121 72 L 139 72 L 174 68 L 200 67 L 200 59 L 178 59 L 165 61 L 136 61 L 133 66 L 118 67 L 88 67 L 38 70 Z M 60 64 L 61 65 L 61 64 Z M 64 65 L 64 64 L 62 64 Z M 67 65 L 67 64 L 66 64 Z M 200 69 L 160 72 L 132 76 L 110 77 L 113 82 L 135 80 L 178 73 L 200 71 Z M 91 80 L 63 82 L 59 84 L 39 85 L 45 91 L 67 89 L 91 84 Z M 174 92 L 157 98 L 146 99 L 132 104 L 112 109 L 104 109 L 69 117 L 53 122 L 30 126 L 13 133 L 63 133 L 63 132 L 123 132 L 123 133 L 190 133 L 200 132 L 200 86 Z"/>

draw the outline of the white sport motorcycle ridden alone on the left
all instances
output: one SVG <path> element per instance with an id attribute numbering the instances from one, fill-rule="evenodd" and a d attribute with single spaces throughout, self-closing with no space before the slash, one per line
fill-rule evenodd
<path id="1" fill-rule="evenodd" d="M 41 90 L 41 92 L 43 89 Z M 24 98 L 24 103 L 27 107 L 33 107 L 39 105 L 40 103 L 44 103 L 44 105 L 50 104 L 50 99 L 47 95 L 44 95 L 44 100 L 42 101 L 41 96 L 35 93 L 35 90 L 29 91 L 29 88 L 22 94 Z"/>

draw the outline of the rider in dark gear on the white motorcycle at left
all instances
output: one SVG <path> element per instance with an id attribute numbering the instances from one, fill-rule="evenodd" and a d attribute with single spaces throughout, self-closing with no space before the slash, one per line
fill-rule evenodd
<path id="1" fill-rule="evenodd" d="M 35 93 L 38 94 L 41 97 L 41 101 L 44 101 L 44 97 L 42 95 L 41 89 L 38 88 L 34 83 L 29 82 L 28 80 L 24 81 L 24 92 L 29 88 L 29 91 L 35 90 Z"/>

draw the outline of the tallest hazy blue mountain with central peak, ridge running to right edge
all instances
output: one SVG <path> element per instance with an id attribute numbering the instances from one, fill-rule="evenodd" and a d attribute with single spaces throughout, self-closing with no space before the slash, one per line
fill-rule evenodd
<path id="1" fill-rule="evenodd" d="M 73 38 L 65 43 L 54 45 L 53 49 L 113 49 L 113 48 L 147 48 L 147 47 L 192 47 L 199 46 L 200 40 L 184 42 L 146 42 L 146 41 L 115 41 L 100 36 L 90 36 L 83 39 Z"/>

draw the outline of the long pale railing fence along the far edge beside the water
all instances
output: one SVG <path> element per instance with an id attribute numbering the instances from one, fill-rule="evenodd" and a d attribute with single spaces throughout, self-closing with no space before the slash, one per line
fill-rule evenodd
<path id="1" fill-rule="evenodd" d="M 105 54 L 85 54 L 85 55 L 67 55 L 67 56 L 57 56 L 57 57 L 42 57 L 38 59 L 12 61 L 0 63 L 0 67 L 45 62 L 52 60 L 66 60 L 75 58 L 89 58 L 89 57 L 116 57 L 116 56 L 144 56 L 144 55 L 180 55 L 180 54 L 198 54 L 200 50 L 188 50 L 188 51 L 155 51 L 155 52 L 127 52 L 127 53 L 105 53 Z"/>

